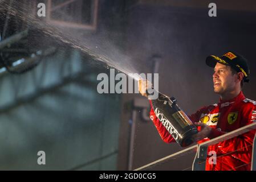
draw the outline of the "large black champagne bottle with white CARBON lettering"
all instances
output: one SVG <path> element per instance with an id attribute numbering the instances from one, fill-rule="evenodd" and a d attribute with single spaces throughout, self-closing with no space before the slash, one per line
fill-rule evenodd
<path id="1" fill-rule="evenodd" d="M 154 89 L 153 92 L 158 91 Z M 148 90 L 147 94 L 151 100 Z M 157 99 L 151 100 L 156 117 L 181 147 L 189 146 L 193 143 L 192 135 L 198 133 L 197 127 L 177 105 L 176 98 L 165 96 L 160 92 L 158 94 Z"/>

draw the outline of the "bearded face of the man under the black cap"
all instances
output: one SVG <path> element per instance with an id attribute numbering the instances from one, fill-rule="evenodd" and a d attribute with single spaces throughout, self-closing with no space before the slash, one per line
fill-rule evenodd
<path id="1" fill-rule="evenodd" d="M 225 94 L 235 89 L 235 75 L 232 74 L 231 68 L 217 63 L 213 73 L 214 92 Z"/>

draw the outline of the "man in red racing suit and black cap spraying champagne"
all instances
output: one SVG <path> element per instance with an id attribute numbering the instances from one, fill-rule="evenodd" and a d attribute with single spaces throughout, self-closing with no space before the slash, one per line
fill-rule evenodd
<path id="1" fill-rule="evenodd" d="M 194 142 L 202 143 L 220 135 L 249 125 L 256 121 L 256 102 L 245 98 L 242 93 L 244 82 L 249 82 L 249 67 L 247 60 L 234 52 L 223 56 L 208 56 L 206 64 L 214 68 L 214 92 L 220 94 L 218 104 L 202 107 L 189 116 L 198 127 L 198 133 L 193 135 Z M 139 91 L 147 96 L 145 90 L 151 87 L 149 81 L 139 81 Z M 151 101 L 150 101 L 151 102 Z M 174 142 L 174 139 L 156 117 L 151 104 L 151 118 L 164 142 Z M 251 151 L 255 130 L 238 137 L 225 140 L 208 147 L 217 154 L 217 163 L 209 164 L 206 159 L 206 170 L 250 170 Z"/>

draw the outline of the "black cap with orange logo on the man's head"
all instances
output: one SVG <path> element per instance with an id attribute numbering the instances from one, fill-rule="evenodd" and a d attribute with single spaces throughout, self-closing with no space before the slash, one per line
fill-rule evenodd
<path id="1" fill-rule="evenodd" d="M 243 73 L 243 81 L 249 82 L 248 76 L 250 74 L 249 66 L 247 63 L 247 60 L 242 55 L 239 55 L 238 53 L 234 53 L 233 51 L 229 51 L 225 53 L 223 56 L 213 56 L 210 55 L 206 57 L 206 64 L 209 67 L 214 68 L 216 63 L 229 65 L 231 68 L 233 68 L 237 72 Z"/>

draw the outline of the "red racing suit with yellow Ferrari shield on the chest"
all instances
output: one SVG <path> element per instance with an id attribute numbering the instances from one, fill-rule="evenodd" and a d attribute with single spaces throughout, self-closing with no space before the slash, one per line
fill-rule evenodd
<path id="1" fill-rule="evenodd" d="M 150 117 L 162 140 L 166 143 L 175 142 L 161 121 L 156 117 L 152 103 Z M 189 118 L 192 122 L 202 122 L 212 127 L 209 137 L 198 141 L 198 143 L 202 143 L 239 127 L 256 122 L 256 102 L 245 98 L 243 93 L 240 92 L 232 100 L 222 101 L 220 99 L 218 104 L 202 107 L 196 113 L 190 115 Z M 197 129 L 200 131 L 201 127 L 199 126 Z M 208 156 L 205 170 L 250 170 L 254 135 L 255 130 L 251 130 L 238 137 L 209 146 L 208 154 L 209 151 L 215 151 L 217 161 L 215 164 L 210 164 L 208 162 L 210 156 Z"/>

